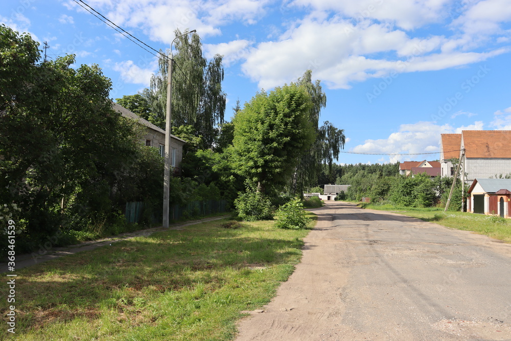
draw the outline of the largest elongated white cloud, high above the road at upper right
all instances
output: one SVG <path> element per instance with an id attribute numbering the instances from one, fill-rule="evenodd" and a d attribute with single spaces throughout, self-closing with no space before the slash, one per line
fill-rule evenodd
<path id="1" fill-rule="evenodd" d="M 263 88 L 290 82 L 307 69 L 331 88 L 350 88 L 352 82 L 391 72 L 443 70 L 508 51 L 442 52 L 446 41 L 443 36 L 412 38 L 383 24 L 354 26 L 340 17 L 328 21 L 306 18 L 280 40 L 250 49 L 242 70 Z"/>

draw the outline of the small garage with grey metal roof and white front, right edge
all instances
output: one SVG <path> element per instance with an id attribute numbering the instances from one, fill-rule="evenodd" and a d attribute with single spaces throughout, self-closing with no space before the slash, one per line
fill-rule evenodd
<path id="1" fill-rule="evenodd" d="M 474 179 L 468 194 L 468 212 L 511 218 L 511 179 Z"/>

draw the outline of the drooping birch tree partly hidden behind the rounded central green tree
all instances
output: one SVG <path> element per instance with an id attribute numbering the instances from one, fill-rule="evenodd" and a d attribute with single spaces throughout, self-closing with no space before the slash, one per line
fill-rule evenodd
<path id="1" fill-rule="evenodd" d="M 327 106 L 327 95 L 323 92 L 321 81 L 312 82 L 312 71 L 307 70 L 299 78 L 297 85 L 304 86 L 311 97 L 312 106 L 309 110 L 309 122 L 314 127 L 316 139 L 311 148 L 299 160 L 292 179 L 292 191 L 303 195 L 304 187 L 315 185 L 323 165 L 332 168 L 334 158 L 344 148 L 344 130 L 334 127 L 329 121 L 319 126 L 321 109 Z"/>

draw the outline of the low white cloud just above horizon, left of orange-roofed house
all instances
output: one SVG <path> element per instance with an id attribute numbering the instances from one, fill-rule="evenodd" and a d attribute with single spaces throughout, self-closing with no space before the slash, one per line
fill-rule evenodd
<path id="1" fill-rule="evenodd" d="M 511 123 L 511 121 L 510 121 Z M 386 156 L 390 162 L 434 160 L 437 154 L 422 155 L 420 153 L 433 153 L 440 151 L 440 134 L 460 133 L 461 130 L 482 130 L 481 121 L 472 125 L 454 128 L 449 124 L 437 125 L 433 122 L 417 122 L 413 124 L 402 124 L 398 132 L 391 133 L 387 139 L 365 140 L 364 144 L 352 149 L 355 152 L 365 153 L 412 153 L 419 155 L 390 155 Z M 385 158 L 385 157 L 384 157 Z M 383 159 L 382 159 L 383 160 Z"/>

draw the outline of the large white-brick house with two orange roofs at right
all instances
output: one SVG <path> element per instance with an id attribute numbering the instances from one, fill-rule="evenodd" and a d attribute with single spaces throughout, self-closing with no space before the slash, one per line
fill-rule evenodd
<path id="1" fill-rule="evenodd" d="M 511 173 L 511 130 L 463 130 L 461 134 L 442 134 L 440 140 L 442 175 L 455 172 L 450 158 L 459 158 L 465 150 L 466 181 Z"/>

